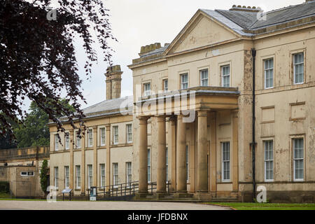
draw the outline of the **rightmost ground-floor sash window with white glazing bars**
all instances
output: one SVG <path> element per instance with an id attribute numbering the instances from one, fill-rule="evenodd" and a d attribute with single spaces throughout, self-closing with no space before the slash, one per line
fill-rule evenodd
<path id="1" fill-rule="evenodd" d="M 303 139 L 293 139 L 293 170 L 294 180 L 304 180 Z"/>

